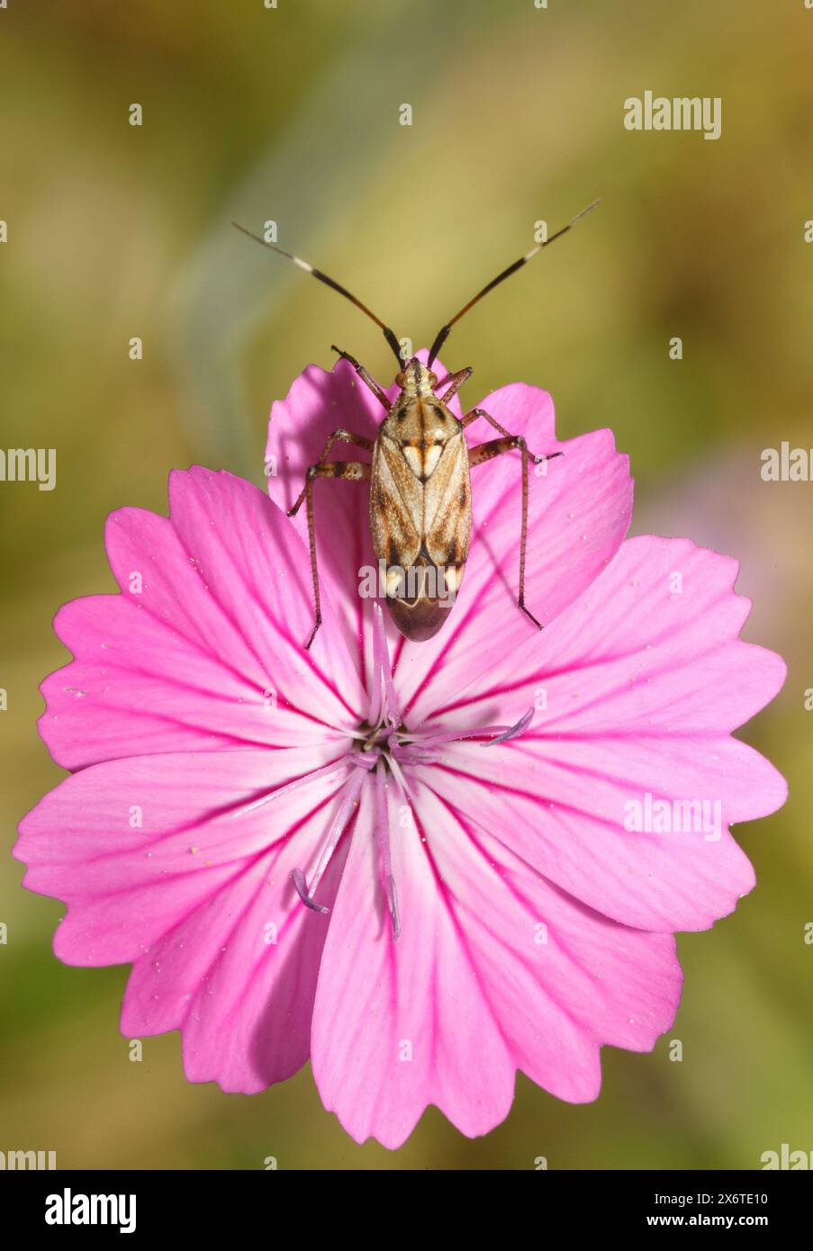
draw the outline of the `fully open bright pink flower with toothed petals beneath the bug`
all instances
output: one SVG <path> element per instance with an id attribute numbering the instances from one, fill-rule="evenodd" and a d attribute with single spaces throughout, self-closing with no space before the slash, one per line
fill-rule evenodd
<path id="1" fill-rule="evenodd" d="M 273 410 L 281 503 L 335 425 L 374 435 L 374 404 L 343 363 L 305 370 Z M 673 931 L 752 888 L 728 827 L 785 794 L 730 737 L 784 673 L 738 638 L 735 564 L 623 542 L 632 484 L 608 430 L 557 444 L 530 387 L 487 408 L 565 453 L 532 479 L 542 633 L 515 605 L 515 453 L 473 472 L 463 589 L 423 643 L 385 636 L 355 593 L 365 487 L 316 483 L 310 653 L 295 525 L 240 479 L 176 472 L 169 519 L 109 520 L 121 593 L 58 614 L 75 659 L 43 686 L 41 732 L 73 776 L 15 849 L 26 886 L 68 903 L 61 960 L 133 963 L 126 1036 L 179 1028 L 188 1078 L 226 1091 L 310 1057 L 325 1107 L 388 1147 L 429 1103 L 487 1132 L 517 1068 L 580 1102 L 602 1045 L 650 1050 L 680 993 Z M 719 822 L 645 828 L 647 803 L 674 801 Z"/>

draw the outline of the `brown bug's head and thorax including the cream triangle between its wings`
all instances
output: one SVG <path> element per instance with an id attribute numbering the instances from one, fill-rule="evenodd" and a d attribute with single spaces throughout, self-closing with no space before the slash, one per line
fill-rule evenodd
<path id="1" fill-rule="evenodd" d="M 400 394 L 380 434 L 399 448 L 415 478 L 427 482 L 445 444 L 460 433 L 460 423 L 435 394 L 435 375 L 417 358 L 409 362 L 395 383 Z"/>

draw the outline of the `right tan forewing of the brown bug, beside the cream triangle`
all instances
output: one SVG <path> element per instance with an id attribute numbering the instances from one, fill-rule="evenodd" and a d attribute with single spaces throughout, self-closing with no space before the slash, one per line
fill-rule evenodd
<path id="1" fill-rule="evenodd" d="M 459 569 L 469 554 L 472 535 L 472 480 L 469 450 L 463 435 L 445 444 L 424 487 L 424 542 L 437 565 Z"/>

